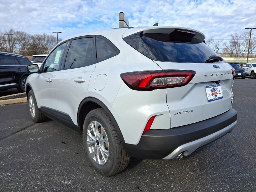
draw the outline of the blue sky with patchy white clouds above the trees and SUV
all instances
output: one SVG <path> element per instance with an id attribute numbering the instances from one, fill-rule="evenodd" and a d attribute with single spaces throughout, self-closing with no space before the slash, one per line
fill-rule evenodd
<path id="1" fill-rule="evenodd" d="M 0 0 L 0 30 L 22 30 L 30 34 L 61 31 L 68 36 L 118 27 L 119 12 L 130 26 L 182 26 L 215 39 L 229 39 L 256 27 L 256 0 Z M 256 31 L 255 31 L 256 33 Z"/>

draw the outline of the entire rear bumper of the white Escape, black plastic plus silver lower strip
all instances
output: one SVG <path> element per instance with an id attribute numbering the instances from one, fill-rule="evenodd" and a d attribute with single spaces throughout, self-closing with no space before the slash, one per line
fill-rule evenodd
<path id="1" fill-rule="evenodd" d="M 197 148 L 230 133 L 237 124 L 237 111 L 229 111 L 197 123 L 172 129 L 149 130 L 137 145 L 122 143 L 125 151 L 138 158 L 173 159 L 184 152 L 189 155 Z"/>

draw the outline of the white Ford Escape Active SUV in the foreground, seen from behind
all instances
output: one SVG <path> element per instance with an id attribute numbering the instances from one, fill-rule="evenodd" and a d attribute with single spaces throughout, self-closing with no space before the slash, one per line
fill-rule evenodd
<path id="1" fill-rule="evenodd" d="M 181 159 L 237 123 L 234 71 L 204 38 L 182 27 L 125 27 L 63 40 L 39 70 L 28 66 L 31 118 L 82 134 L 103 175 L 130 156 Z"/>

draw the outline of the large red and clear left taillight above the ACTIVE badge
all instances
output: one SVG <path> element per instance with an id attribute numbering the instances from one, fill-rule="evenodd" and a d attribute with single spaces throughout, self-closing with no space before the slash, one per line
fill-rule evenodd
<path id="1" fill-rule="evenodd" d="M 188 84 L 195 76 L 190 70 L 155 70 L 122 73 L 125 84 L 133 90 L 151 91 Z"/>

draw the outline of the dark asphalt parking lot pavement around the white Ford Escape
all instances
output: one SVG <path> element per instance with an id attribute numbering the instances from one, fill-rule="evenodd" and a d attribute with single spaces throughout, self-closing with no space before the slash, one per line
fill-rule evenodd
<path id="1" fill-rule="evenodd" d="M 255 191 L 256 79 L 235 79 L 232 133 L 180 161 L 131 158 L 120 174 L 87 163 L 82 136 L 48 120 L 35 124 L 27 103 L 0 106 L 0 191 Z"/>

